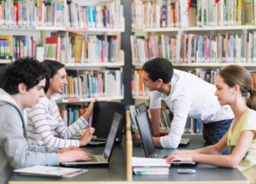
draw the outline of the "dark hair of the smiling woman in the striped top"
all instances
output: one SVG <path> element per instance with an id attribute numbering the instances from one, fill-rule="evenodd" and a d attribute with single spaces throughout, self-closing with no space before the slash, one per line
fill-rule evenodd
<path id="1" fill-rule="evenodd" d="M 45 87 L 44 87 L 44 93 L 46 94 L 50 86 L 50 78 L 53 78 L 53 76 L 56 75 L 57 71 L 60 70 L 61 68 L 64 68 L 65 65 L 63 65 L 61 62 L 57 62 L 50 59 L 45 59 L 44 62 L 42 63 L 47 66 L 49 71 L 46 78 Z"/>

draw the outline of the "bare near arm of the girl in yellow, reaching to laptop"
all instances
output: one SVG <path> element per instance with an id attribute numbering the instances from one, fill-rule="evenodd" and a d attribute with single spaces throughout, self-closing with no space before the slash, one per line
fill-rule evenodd
<path id="1" fill-rule="evenodd" d="M 226 135 L 225 135 L 226 136 Z M 248 148 L 251 145 L 251 141 L 254 138 L 254 132 L 251 130 L 246 130 L 241 133 L 238 140 L 238 144 L 235 145 L 232 154 L 230 155 L 212 155 L 212 154 L 177 154 L 177 156 L 171 157 L 170 160 L 191 160 L 200 163 L 207 163 L 217 167 L 238 167 L 238 164 L 241 162 L 245 156 Z M 223 144 L 223 143 L 222 143 Z M 207 149 L 209 151 L 209 148 Z M 206 149 L 204 150 L 205 153 Z M 202 153 L 202 150 L 201 150 Z"/>

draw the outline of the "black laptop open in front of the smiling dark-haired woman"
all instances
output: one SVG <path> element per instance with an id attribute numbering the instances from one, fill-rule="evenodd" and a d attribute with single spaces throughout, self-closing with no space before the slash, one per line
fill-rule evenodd
<path id="1" fill-rule="evenodd" d="M 109 130 L 114 114 L 119 113 L 125 117 L 125 104 L 118 102 L 97 101 L 94 103 L 92 115 L 92 127 L 96 129 L 89 145 L 104 145 L 107 141 Z M 122 142 L 122 133 L 125 125 L 125 118 L 120 122 L 115 143 Z"/>

